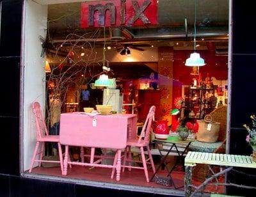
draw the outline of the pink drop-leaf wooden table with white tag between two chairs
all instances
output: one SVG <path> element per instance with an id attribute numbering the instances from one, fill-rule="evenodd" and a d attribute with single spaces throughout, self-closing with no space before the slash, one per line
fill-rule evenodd
<path id="1" fill-rule="evenodd" d="M 116 180 L 120 180 L 121 150 L 127 138 L 136 138 L 136 114 L 109 114 L 90 116 L 84 113 L 63 113 L 60 117 L 60 143 L 65 145 L 63 175 L 67 175 L 67 165 L 116 168 Z M 95 162 L 68 161 L 68 146 L 116 149 L 117 163 L 113 165 Z M 113 178 L 113 175 L 111 175 Z"/>

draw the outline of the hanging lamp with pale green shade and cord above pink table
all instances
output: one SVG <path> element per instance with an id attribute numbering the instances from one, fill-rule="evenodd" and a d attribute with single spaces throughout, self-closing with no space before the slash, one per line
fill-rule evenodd
<path id="1" fill-rule="evenodd" d="M 114 81 L 113 79 L 108 79 L 108 75 L 106 75 L 106 72 L 109 72 L 110 68 L 105 66 L 105 46 L 106 46 L 106 35 L 105 35 L 105 26 L 104 26 L 104 47 L 103 47 L 103 72 L 104 74 L 100 75 L 99 79 L 95 81 L 95 86 L 106 86 L 110 87 L 113 86 Z"/>

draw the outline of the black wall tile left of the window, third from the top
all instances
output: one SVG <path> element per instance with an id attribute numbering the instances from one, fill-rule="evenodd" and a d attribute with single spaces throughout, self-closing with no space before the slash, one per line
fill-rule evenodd
<path id="1" fill-rule="evenodd" d="M 19 175 L 19 117 L 0 116 L 0 173 Z"/>

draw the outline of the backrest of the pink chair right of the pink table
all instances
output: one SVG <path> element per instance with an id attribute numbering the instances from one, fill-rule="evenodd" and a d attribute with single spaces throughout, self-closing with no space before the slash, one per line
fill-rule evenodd
<path id="1" fill-rule="evenodd" d="M 143 128 L 141 130 L 140 138 L 138 140 L 138 143 L 140 143 L 141 139 L 143 138 L 143 135 L 145 134 L 144 140 L 149 143 L 150 140 L 150 129 L 152 125 L 152 120 L 155 118 L 155 111 L 156 111 L 156 106 L 151 106 L 148 115 L 146 118 L 146 121 L 143 125 Z"/>

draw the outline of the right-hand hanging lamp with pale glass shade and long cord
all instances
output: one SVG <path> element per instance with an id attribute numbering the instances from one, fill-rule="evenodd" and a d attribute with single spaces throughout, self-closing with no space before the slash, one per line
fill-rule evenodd
<path id="1" fill-rule="evenodd" d="M 200 58 L 200 54 L 196 52 L 196 3 L 195 0 L 195 23 L 194 23 L 194 52 L 190 54 L 190 57 L 186 59 L 185 65 L 187 67 L 202 67 L 205 65 L 204 59 Z"/>

